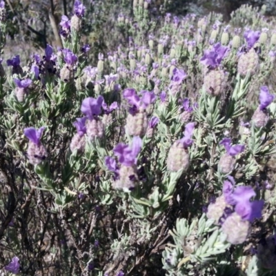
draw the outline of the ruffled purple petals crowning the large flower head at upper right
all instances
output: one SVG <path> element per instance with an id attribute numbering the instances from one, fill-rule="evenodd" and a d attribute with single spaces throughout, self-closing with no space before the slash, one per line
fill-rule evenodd
<path id="1" fill-rule="evenodd" d="M 204 51 L 204 56 L 201 57 L 200 62 L 211 69 L 215 69 L 220 65 L 222 59 L 228 55 L 228 51 L 228 47 L 216 43 L 211 50 Z"/>

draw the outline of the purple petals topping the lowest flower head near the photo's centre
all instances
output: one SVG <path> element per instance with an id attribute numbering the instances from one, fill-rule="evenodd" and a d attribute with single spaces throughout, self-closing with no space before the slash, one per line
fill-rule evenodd
<path id="1" fill-rule="evenodd" d="M 113 151 L 122 165 L 130 167 L 137 164 L 137 156 L 139 155 L 141 147 L 141 138 L 139 136 L 135 136 L 133 137 L 131 147 L 126 144 L 119 143 Z"/>

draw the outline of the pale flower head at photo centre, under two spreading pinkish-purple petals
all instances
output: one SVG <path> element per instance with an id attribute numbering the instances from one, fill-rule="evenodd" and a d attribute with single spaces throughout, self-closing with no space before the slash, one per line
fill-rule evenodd
<path id="1" fill-rule="evenodd" d="M 145 110 L 139 110 L 135 115 L 129 114 L 126 118 L 126 132 L 132 136 L 143 137 L 148 128 L 148 119 Z"/>

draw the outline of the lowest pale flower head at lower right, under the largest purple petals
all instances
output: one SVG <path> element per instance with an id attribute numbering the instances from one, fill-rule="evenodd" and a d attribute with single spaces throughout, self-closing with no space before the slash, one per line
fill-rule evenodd
<path id="1" fill-rule="evenodd" d="M 250 235 L 251 226 L 248 220 L 242 220 L 237 213 L 232 213 L 222 224 L 221 230 L 227 235 L 227 242 L 242 244 Z"/>

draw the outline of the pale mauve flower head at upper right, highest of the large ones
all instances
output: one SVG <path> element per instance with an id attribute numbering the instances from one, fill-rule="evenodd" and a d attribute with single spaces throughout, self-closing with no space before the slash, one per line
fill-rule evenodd
<path id="1" fill-rule="evenodd" d="M 239 74 L 243 77 L 245 77 L 248 72 L 250 72 L 250 75 L 253 76 L 257 72 L 258 65 L 259 57 L 255 50 L 251 48 L 249 52 L 246 52 L 246 54 L 242 54 L 239 57 L 237 72 L 239 72 Z"/>

